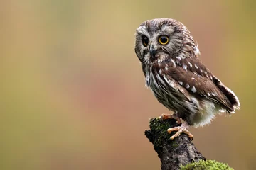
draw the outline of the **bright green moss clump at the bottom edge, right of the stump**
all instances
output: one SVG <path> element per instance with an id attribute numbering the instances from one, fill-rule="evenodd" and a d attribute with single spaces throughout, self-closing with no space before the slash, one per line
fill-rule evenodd
<path id="1" fill-rule="evenodd" d="M 193 162 L 191 164 L 187 164 L 186 166 L 181 166 L 181 170 L 233 170 L 230 168 L 228 164 L 223 164 L 221 162 L 216 162 L 212 160 L 203 161 L 200 160 L 199 162 Z"/>

